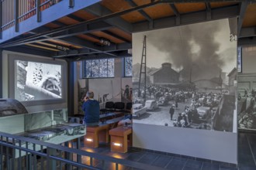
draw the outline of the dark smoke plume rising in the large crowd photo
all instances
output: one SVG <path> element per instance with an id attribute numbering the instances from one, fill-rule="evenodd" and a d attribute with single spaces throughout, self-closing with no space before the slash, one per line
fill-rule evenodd
<path id="1" fill-rule="evenodd" d="M 166 62 L 178 68 L 185 80 L 209 80 L 220 76 L 221 68 L 226 62 L 217 53 L 220 42 L 216 39 L 216 33 L 220 32 L 220 22 L 174 29 L 176 30 L 170 29 L 168 34 L 150 34 L 147 43 L 166 53 Z"/>

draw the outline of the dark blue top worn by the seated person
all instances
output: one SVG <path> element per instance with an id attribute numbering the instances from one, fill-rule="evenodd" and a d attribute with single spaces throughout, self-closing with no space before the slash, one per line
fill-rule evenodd
<path id="1" fill-rule="evenodd" d="M 85 101 L 82 110 L 85 112 L 84 121 L 86 124 L 99 122 L 99 101 L 91 99 Z"/>

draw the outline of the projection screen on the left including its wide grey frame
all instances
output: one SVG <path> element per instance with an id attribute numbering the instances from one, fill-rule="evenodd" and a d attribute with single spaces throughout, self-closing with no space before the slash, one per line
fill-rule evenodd
<path id="1" fill-rule="evenodd" d="M 27 106 L 62 103 L 65 70 L 61 60 L 9 54 L 9 96 Z"/>

